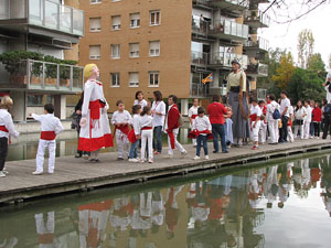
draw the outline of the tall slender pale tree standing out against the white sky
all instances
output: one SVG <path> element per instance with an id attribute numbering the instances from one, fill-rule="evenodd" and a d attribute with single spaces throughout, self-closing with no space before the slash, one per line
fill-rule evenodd
<path id="1" fill-rule="evenodd" d="M 302 30 L 298 36 L 298 65 L 308 67 L 308 60 L 313 53 L 314 39 L 311 30 Z"/>

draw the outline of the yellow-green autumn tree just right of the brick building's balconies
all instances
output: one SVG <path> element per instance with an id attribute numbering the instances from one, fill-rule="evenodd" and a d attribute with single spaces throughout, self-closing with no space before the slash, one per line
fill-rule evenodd
<path id="1" fill-rule="evenodd" d="M 284 53 L 280 57 L 276 74 L 271 77 L 278 89 L 286 89 L 291 80 L 296 67 L 291 53 Z"/>

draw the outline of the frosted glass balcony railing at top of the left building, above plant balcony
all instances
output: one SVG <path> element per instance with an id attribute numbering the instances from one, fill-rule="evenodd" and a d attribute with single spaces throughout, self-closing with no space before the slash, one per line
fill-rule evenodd
<path id="1" fill-rule="evenodd" d="M 4 0 L 0 20 L 26 19 L 28 24 L 82 36 L 84 11 L 52 0 Z"/>

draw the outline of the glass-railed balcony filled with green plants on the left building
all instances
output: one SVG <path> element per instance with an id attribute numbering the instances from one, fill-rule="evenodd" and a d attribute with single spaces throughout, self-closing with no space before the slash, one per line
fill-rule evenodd
<path id="1" fill-rule="evenodd" d="M 76 94 L 83 90 L 83 71 L 81 66 L 33 60 L 0 64 L 0 88 Z"/>

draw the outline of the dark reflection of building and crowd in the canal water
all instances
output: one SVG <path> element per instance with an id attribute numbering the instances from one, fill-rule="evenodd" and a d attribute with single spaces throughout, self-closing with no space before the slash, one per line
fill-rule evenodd
<path id="1" fill-rule="evenodd" d="M 266 212 L 319 191 L 331 216 L 330 155 L 124 196 L 1 213 L 0 247 L 256 248 Z M 32 228 L 35 227 L 35 228 Z"/>

